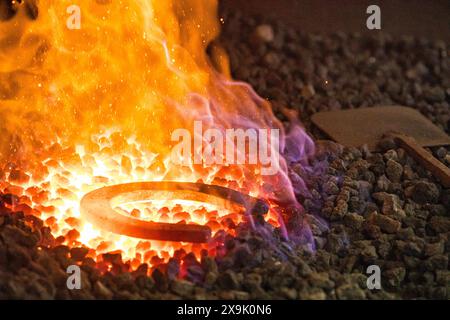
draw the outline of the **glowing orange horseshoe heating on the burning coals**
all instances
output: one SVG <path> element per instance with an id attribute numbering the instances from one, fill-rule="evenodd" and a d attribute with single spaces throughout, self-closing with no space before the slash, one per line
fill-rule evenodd
<path id="1" fill-rule="evenodd" d="M 144 221 L 113 209 L 120 203 L 155 198 L 202 201 L 246 214 L 263 215 L 269 209 L 264 200 L 225 187 L 161 181 L 118 184 L 89 192 L 81 199 L 81 216 L 101 229 L 134 238 L 199 243 L 209 240 L 211 229 L 207 226 Z"/>

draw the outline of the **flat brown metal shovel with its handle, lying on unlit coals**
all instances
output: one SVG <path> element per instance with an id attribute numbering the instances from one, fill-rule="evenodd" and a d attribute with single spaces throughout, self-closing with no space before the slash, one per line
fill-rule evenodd
<path id="1" fill-rule="evenodd" d="M 450 137 L 415 109 L 387 106 L 319 112 L 312 121 L 331 139 L 352 147 L 367 144 L 371 151 L 377 150 L 380 139 L 391 136 L 445 188 L 450 188 L 450 169 L 424 149 L 450 145 Z"/>

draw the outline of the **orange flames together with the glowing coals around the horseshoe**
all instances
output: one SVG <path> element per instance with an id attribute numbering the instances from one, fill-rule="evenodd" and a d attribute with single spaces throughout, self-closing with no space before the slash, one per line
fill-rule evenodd
<path id="1" fill-rule="evenodd" d="M 0 118 L 7 119 L 0 159 L 8 163 L 0 190 L 18 196 L 15 210 L 42 218 L 64 244 L 92 248 L 92 257 L 120 250 L 133 267 L 165 261 L 178 249 L 198 257 L 217 248 L 95 228 L 80 219 L 87 192 L 135 181 L 202 181 L 271 200 L 267 220 L 283 224 L 274 203 L 296 203 L 284 160 L 266 177 L 255 165 L 185 167 L 169 159 L 171 133 L 196 120 L 220 130 L 277 128 L 284 147 L 270 105 L 229 77 L 226 55 L 213 42 L 217 0 L 79 0 L 79 30 L 66 26 L 72 1 L 37 4 L 35 19 L 24 0 L 0 22 Z M 117 210 L 205 224 L 216 235 L 233 235 L 242 222 L 236 212 L 173 199 Z"/>

